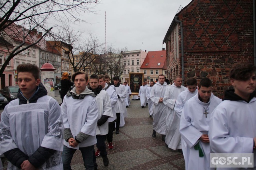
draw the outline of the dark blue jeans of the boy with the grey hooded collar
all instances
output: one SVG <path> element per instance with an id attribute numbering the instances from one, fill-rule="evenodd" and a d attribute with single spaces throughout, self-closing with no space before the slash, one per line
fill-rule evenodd
<path id="1" fill-rule="evenodd" d="M 94 170 L 94 163 L 93 163 L 93 156 L 94 156 L 94 145 L 89 147 L 79 148 L 82 153 L 84 166 L 86 170 Z M 76 149 L 68 148 L 63 145 L 63 152 L 62 152 L 62 163 L 64 170 L 71 170 L 71 160 L 75 153 Z"/>

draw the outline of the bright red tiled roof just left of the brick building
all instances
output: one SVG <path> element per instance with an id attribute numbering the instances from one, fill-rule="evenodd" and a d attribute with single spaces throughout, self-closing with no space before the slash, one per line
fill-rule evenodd
<path id="1" fill-rule="evenodd" d="M 159 64 L 160 63 L 160 64 Z M 158 65 L 159 64 L 159 65 Z M 166 69 L 166 50 L 148 51 L 147 56 L 140 68 L 162 68 Z"/>

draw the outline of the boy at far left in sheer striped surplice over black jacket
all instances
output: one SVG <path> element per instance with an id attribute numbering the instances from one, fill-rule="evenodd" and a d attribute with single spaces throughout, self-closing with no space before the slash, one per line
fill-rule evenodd
<path id="1" fill-rule="evenodd" d="M 5 106 L 0 122 L 0 155 L 8 169 L 63 169 L 63 121 L 58 102 L 47 96 L 39 68 L 17 67 L 18 97 Z"/>

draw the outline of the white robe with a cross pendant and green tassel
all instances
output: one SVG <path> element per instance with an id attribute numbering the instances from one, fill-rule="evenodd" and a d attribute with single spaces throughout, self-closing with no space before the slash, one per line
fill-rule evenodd
<path id="1" fill-rule="evenodd" d="M 222 101 L 211 94 L 210 101 L 204 103 L 199 100 L 198 94 L 185 103 L 181 114 L 180 133 L 187 144 L 187 150 L 185 151 L 187 154 L 185 158 L 187 170 L 210 169 L 210 144 L 202 142 L 199 138 L 203 134 L 209 133 L 211 114 Z M 204 114 L 205 110 L 209 113 L 207 118 Z M 199 157 L 199 151 L 194 149 L 198 142 L 203 151 L 203 157 Z"/>

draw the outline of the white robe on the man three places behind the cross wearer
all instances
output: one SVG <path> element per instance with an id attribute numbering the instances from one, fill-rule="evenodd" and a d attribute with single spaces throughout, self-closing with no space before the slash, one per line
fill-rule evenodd
<path id="1" fill-rule="evenodd" d="M 150 92 L 150 99 L 154 104 L 153 130 L 161 135 L 166 134 L 166 105 L 163 102 L 159 103 L 159 99 L 163 98 L 167 87 L 166 82 L 163 85 L 156 82 Z"/>

